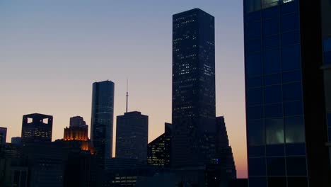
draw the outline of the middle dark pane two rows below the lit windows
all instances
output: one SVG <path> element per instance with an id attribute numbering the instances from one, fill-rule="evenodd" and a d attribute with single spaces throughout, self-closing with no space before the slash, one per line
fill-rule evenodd
<path id="1" fill-rule="evenodd" d="M 284 176 L 285 175 L 285 158 L 267 158 L 267 174 L 268 176 Z"/>

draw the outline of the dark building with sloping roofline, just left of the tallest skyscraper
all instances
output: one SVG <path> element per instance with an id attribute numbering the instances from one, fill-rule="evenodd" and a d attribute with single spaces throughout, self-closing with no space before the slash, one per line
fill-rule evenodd
<path id="1" fill-rule="evenodd" d="M 149 165 L 170 168 L 172 129 L 173 125 L 165 123 L 164 133 L 149 143 L 147 148 L 147 163 Z"/>

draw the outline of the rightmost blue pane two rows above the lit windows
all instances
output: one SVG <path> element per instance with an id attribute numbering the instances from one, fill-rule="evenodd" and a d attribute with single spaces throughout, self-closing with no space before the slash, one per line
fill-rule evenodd
<path id="1" fill-rule="evenodd" d="M 301 83 L 283 84 L 284 101 L 301 101 Z"/>

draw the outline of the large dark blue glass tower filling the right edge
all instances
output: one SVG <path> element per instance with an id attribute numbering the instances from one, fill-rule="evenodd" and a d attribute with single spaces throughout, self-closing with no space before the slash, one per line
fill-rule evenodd
<path id="1" fill-rule="evenodd" d="M 244 1 L 249 186 L 331 186 L 321 7 L 330 20 L 330 1 Z"/>

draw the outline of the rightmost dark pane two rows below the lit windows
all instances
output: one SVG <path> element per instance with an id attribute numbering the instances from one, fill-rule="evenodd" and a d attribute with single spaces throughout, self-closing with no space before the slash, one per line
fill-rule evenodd
<path id="1" fill-rule="evenodd" d="M 306 157 L 287 157 L 288 176 L 307 176 Z"/>

